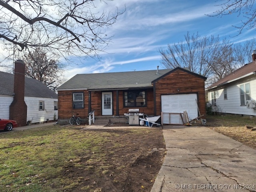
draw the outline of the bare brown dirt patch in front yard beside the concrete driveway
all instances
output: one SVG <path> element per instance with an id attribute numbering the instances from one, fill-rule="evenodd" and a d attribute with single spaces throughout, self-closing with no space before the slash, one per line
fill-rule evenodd
<path id="1" fill-rule="evenodd" d="M 66 168 L 64 177 L 81 178 L 72 192 L 150 192 L 166 154 L 162 129 L 148 128 L 144 134 L 136 134 L 136 129 L 93 131 L 111 133 L 110 142 L 101 146 L 107 155 L 97 162 L 93 154 L 81 156 L 81 167 Z M 118 147 L 123 144 L 126 148 Z"/>

